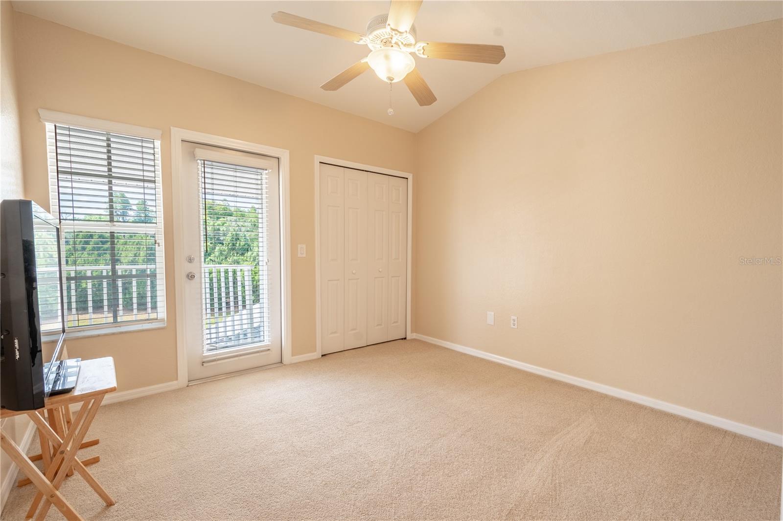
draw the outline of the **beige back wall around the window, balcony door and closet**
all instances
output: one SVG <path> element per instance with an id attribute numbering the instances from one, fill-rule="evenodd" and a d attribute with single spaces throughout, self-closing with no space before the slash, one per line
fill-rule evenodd
<path id="1" fill-rule="evenodd" d="M 110 355 L 120 390 L 177 378 L 169 128 L 290 151 L 293 354 L 316 349 L 314 157 L 413 172 L 413 134 L 150 52 L 16 13 L 26 193 L 48 206 L 45 128 L 38 109 L 159 128 L 168 326 L 69 340 L 70 356 Z M 308 257 L 296 245 L 309 246 Z"/>

